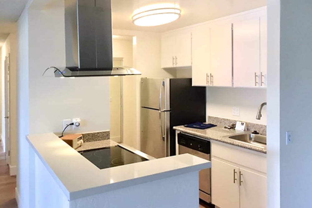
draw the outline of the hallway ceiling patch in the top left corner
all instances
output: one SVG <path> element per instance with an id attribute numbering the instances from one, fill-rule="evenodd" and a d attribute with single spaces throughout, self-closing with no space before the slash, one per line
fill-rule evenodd
<path id="1" fill-rule="evenodd" d="M 0 22 L 16 22 L 28 0 L 0 0 Z"/>

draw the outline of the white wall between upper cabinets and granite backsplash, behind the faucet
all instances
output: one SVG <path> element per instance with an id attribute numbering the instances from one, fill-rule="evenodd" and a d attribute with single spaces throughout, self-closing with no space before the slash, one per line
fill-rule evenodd
<path id="1" fill-rule="evenodd" d="M 266 89 L 207 87 L 206 98 L 209 116 L 266 125 L 266 106 L 256 119 L 260 104 L 266 102 Z M 233 107 L 240 108 L 240 116 L 233 116 Z"/>

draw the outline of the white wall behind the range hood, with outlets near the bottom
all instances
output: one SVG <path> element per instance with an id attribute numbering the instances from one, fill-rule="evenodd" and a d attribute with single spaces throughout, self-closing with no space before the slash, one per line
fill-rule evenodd
<path id="1" fill-rule="evenodd" d="M 29 10 L 30 134 L 61 133 L 63 119 L 81 119 L 81 129 L 110 129 L 108 77 L 59 79 L 43 77 L 49 66 L 65 66 L 64 7 Z"/>

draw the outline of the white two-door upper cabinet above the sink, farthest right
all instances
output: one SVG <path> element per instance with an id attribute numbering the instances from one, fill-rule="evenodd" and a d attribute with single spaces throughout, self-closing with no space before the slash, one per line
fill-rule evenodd
<path id="1" fill-rule="evenodd" d="M 266 87 L 266 12 L 244 15 L 233 23 L 234 87 Z"/>

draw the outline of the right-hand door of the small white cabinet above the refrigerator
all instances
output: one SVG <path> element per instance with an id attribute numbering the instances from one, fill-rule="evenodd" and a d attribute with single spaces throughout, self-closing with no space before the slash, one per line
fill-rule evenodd
<path id="1" fill-rule="evenodd" d="M 191 32 L 178 32 L 176 35 L 175 66 L 192 65 L 192 38 Z"/>

